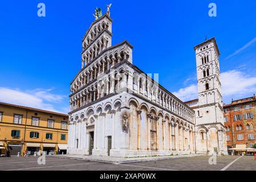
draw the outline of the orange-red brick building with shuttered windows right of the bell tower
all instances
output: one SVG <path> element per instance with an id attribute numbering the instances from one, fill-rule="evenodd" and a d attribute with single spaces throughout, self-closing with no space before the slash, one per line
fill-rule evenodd
<path id="1" fill-rule="evenodd" d="M 256 143 L 256 97 L 224 105 L 227 148 L 253 148 Z"/>

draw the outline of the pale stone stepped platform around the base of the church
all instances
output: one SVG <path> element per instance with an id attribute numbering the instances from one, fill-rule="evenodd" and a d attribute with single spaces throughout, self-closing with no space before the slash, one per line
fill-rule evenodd
<path id="1" fill-rule="evenodd" d="M 147 161 L 156 161 L 156 160 L 165 160 L 165 159 L 179 159 L 179 158 L 192 158 L 202 155 L 169 155 L 169 156 L 152 156 L 152 157 L 138 157 L 138 158 L 114 158 L 111 156 L 92 156 L 92 155 L 51 155 L 55 158 L 64 158 L 64 159 L 80 159 L 87 160 L 92 162 L 101 162 L 101 163 L 113 163 L 113 164 L 124 164 L 124 163 L 136 163 L 136 162 L 147 162 Z"/>

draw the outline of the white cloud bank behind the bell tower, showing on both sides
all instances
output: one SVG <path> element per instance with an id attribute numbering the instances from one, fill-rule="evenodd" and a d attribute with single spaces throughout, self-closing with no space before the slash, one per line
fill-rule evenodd
<path id="1" fill-rule="evenodd" d="M 224 101 L 233 98 L 249 97 L 256 92 L 256 76 L 249 76 L 238 70 L 231 70 L 221 73 L 222 96 Z M 192 84 L 173 92 L 182 101 L 189 101 L 198 98 L 197 85 Z"/>

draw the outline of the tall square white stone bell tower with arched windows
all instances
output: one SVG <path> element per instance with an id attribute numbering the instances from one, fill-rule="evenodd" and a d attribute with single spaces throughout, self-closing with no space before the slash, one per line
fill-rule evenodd
<path id="1" fill-rule="evenodd" d="M 220 51 L 216 39 L 194 47 L 196 51 L 198 105 L 196 111 L 197 152 L 226 154 L 226 135 L 220 80 Z"/>

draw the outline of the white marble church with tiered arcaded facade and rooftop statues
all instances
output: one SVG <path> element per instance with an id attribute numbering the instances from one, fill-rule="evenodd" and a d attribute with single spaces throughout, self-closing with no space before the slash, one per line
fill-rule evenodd
<path id="1" fill-rule="evenodd" d="M 205 129 L 197 111 L 132 64 L 129 42 L 112 46 L 109 7 L 104 15 L 95 11 L 83 37 L 82 68 L 71 82 L 68 154 L 195 154 L 197 133 Z M 211 113 L 215 107 L 209 106 Z"/>

